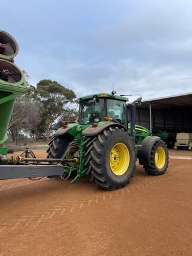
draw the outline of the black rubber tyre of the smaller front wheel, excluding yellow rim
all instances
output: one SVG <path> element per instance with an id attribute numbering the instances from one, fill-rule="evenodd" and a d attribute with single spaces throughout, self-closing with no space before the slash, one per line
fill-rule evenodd
<path id="1" fill-rule="evenodd" d="M 159 146 L 162 146 L 165 149 L 166 158 L 167 158 L 165 161 L 165 165 L 162 169 L 156 168 L 156 165 L 155 165 L 155 151 Z M 145 171 L 148 174 L 162 175 L 167 171 L 167 167 L 168 167 L 168 163 L 169 163 L 169 153 L 168 153 L 167 145 L 165 144 L 165 142 L 163 140 L 159 139 L 154 143 L 152 150 L 151 150 L 150 158 L 151 158 L 150 165 L 143 165 L 143 168 L 145 169 Z"/>

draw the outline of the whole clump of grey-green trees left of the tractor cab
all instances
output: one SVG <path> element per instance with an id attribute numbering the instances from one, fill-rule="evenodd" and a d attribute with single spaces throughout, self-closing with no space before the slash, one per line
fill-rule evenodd
<path id="1" fill-rule="evenodd" d="M 15 100 L 14 111 L 9 122 L 8 134 L 16 143 L 21 131 L 33 139 L 46 137 L 56 126 L 62 126 L 62 120 L 76 120 L 74 109 L 75 93 L 56 81 L 44 79 L 37 88 L 28 82 L 28 74 L 23 71 L 27 81 L 27 91 Z"/>

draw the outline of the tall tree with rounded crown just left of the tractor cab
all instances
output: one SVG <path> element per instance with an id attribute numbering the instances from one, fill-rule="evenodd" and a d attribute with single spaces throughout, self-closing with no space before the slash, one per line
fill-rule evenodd
<path id="1" fill-rule="evenodd" d="M 41 110 L 41 125 L 46 131 L 47 140 L 50 130 L 57 119 L 60 119 L 65 108 L 75 100 L 75 93 L 63 87 L 56 81 L 43 79 L 37 84 L 37 94 L 43 104 Z"/>

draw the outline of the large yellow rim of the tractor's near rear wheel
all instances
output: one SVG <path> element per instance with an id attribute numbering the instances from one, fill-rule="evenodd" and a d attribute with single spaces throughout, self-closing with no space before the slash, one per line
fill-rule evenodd
<path id="1" fill-rule="evenodd" d="M 110 152 L 110 167 L 116 175 L 123 175 L 130 163 L 129 149 L 123 143 L 117 143 Z"/>

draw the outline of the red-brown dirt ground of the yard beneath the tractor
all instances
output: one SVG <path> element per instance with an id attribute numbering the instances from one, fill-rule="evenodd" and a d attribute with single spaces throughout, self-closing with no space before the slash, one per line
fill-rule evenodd
<path id="1" fill-rule="evenodd" d="M 0 181 L 0 256 L 192 255 L 192 152 L 170 155 L 165 175 L 137 165 L 116 191 L 88 177 Z"/>

